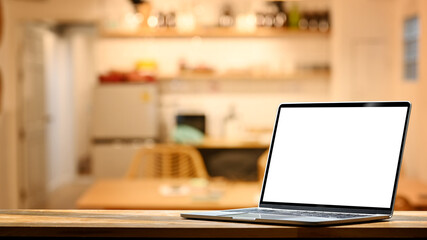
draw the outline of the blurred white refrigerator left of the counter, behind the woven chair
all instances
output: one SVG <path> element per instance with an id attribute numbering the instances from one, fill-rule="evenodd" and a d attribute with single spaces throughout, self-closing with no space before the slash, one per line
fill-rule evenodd
<path id="1" fill-rule="evenodd" d="M 95 88 L 92 121 L 92 173 L 123 177 L 136 150 L 159 139 L 156 83 L 108 83 Z"/>

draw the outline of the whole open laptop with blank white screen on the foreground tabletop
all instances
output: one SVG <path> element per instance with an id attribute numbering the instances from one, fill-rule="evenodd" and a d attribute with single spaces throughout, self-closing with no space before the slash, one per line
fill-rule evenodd
<path id="1" fill-rule="evenodd" d="M 389 219 L 411 103 L 283 103 L 258 207 L 188 219 L 324 226 Z"/>

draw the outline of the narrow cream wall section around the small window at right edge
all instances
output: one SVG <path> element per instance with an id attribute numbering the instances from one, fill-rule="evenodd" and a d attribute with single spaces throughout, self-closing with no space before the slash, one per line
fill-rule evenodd
<path id="1" fill-rule="evenodd" d="M 395 8 L 395 33 L 393 45 L 396 57 L 393 61 L 393 96 L 412 102 L 407 147 L 405 150 L 405 174 L 427 182 L 427 2 L 419 0 L 398 0 Z M 415 81 L 404 79 L 403 74 L 403 29 L 404 20 L 414 15 L 420 20 L 419 77 Z"/>

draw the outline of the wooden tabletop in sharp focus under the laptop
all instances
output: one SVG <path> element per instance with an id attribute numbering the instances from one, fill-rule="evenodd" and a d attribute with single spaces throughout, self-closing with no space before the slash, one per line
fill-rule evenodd
<path id="1" fill-rule="evenodd" d="M 334 227 L 188 220 L 182 211 L 0 210 L 0 236 L 168 238 L 427 238 L 427 212 L 395 212 L 391 220 Z"/>

